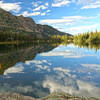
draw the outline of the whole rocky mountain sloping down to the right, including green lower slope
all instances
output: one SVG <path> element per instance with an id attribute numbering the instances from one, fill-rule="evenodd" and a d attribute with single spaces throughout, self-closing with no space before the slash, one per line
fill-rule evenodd
<path id="1" fill-rule="evenodd" d="M 16 37 L 21 35 L 22 37 L 29 36 L 30 38 L 34 37 L 39 39 L 50 38 L 52 35 L 69 35 L 68 33 L 60 32 L 57 29 L 48 26 L 36 24 L 32 18 L 21 16 L 14 16 L 8 11 L 5 11 L 0 8 L 0 33 L 12 35 Z M 16 34 L 17 35 L 16 35 Z M 31 33 L 31 34 L 30 34 Z M 4 34 L 3 34 L 4 35 Z M 19 37 L 18 37 L 19 38 Z M 2 40 L 2 38 L 0 39 Z M 4 39 L 3 39 L 4 40 Z"/>

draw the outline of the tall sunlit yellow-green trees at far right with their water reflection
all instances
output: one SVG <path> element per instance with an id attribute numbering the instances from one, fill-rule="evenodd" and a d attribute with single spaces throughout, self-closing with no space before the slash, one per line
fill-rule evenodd
<path id="1" fill-rule="evenodd" d="M 80 48 L 95 49 L 97 51 L 100 49 L 100 31 L 96 30 L 75 35 L 73 36 L 73 43 Z"/>

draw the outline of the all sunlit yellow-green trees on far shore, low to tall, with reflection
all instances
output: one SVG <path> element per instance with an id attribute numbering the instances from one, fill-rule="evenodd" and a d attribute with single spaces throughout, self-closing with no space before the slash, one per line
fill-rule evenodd
<path id="1" fill-rule="evenodd" d="M 59 43 L 63 45 L 73 43 L 80 48 L 83 47 L 88 49 L 95 49 L 95 51 L 100 49 L 100 31 L 97 30 L 95 32 L 86 32 L 75 36 L 53 35 L 52 39 L 55 41 L 60 41 Z"/>

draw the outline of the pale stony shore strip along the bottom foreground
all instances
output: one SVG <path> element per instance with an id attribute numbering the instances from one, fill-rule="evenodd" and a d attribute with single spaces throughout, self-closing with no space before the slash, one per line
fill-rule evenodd
<path id="1" fill-rule="evenodd" d="M 0 93 L 0 100 L 100 100 L 96 98 L 83 98 L 66 93 L 52 93 L 44 98 L 35 99 L 17 93 Z"/>

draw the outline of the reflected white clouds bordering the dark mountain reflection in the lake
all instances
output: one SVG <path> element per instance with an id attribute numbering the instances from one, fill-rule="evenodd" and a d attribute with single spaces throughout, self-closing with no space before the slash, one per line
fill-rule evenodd
<path id="1" fill-rule="evenodd" d="M 36 72 L 42 72 L 42 71 L 48 71 L 50 72 L 50 66 L 52 64 L 50 62 L 48 62 L 47 60 L 30 60 L 30 61 L 25 61 L 24 64 L 18 64 L 15 65 L 11 68 L 8 68 L 7 70 L 5 70 L 4 75 L 6 75 L 6 77 L 8 76 L 8 78 L 10 78 L 9 74 L 14 74 L 14 73 L 24 73 L 24 70 L 27 68 L 25 66 L 30 66 L 30 68 L 34 69 L 34 71 Z"/>

